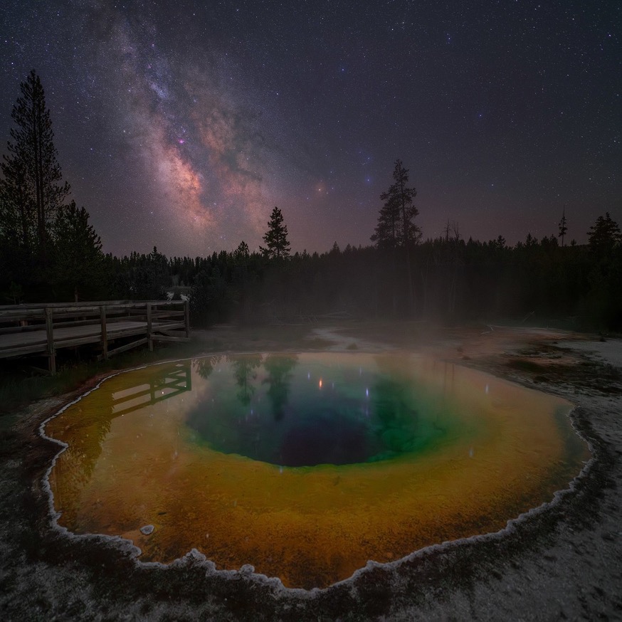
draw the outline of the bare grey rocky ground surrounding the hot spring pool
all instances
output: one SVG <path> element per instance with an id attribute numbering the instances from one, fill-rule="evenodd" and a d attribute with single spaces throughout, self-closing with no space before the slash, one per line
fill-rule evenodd
<path id="1" fill-rule="evenodd" d="M 231 327 L 194 334 L 206 352 L 288 348 L 283 339 L 241 337 Z M 622 619 L 620 340 L 351 323 L 296 330 L 291 347 L 408 349 L 566 397 L 594 458 L 557 502 L 501 534 L 370 565 L 329 589 L 292 591 L 248 572 L 216 572 L 192 556 L 167 567 L 137 564 L 131 547 L 52 529 L 42 480 L 57 448 L 38 426 L 74 396 L 40 401 L 0 418 L 1 619 Z"/>

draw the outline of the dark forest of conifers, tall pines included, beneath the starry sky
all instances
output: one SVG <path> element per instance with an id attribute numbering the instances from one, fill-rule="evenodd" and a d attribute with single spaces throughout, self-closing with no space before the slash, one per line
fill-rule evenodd
<path id="1" fill-rule="evenodd" d="M 33 70 L 21 85 L 1 162 L 0 304 L 159 300 L 187 295 L 193 325 L 314 321 L 322 317 L 547 322 L 576 330 L 622 330 L 622 236 L 599 216 L 584 245 L 559 231 L 507 245 L 465 240 L 448 222 L 423 239 L 416 190 L 394 162 L 369 246 L 292 253 L 275 207 L 258 251 L 241 241 L 206 257 L 102 251 L 89 214 L 70 199 L 53 144 L 51 113 Z"/>

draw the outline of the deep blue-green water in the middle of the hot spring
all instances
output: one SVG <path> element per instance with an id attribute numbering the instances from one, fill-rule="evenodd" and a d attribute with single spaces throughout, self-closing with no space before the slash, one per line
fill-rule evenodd
<path id="1" fill-rule="evenodd" d="M 209 397 L 191 411 L 196 440 L 283 466 L 344 465 L 431 450 L 463 432 L 444 399 L 408 374 L 342 357 L 248 354 L 202 359 Z"/>

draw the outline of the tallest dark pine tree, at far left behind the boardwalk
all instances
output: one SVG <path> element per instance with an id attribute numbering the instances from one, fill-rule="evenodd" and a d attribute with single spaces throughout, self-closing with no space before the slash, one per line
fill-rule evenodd
<path id="1" fill-rule="evenodd" d="M 46 267 L 56 212 L 70 193 L 62 183 L 46 95 L 35 70 L 11 112 L 16 127 L 1 163 L 0 239 Z"/>

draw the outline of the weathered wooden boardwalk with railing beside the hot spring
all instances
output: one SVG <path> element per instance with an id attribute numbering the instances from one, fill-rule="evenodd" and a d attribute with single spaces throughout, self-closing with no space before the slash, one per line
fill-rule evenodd
<path id="1" fill-rule="evenodd" d="M 116 339 L 138 337 L 110 348 Z M 190 336 L 188 301 L 105 300 L 0 306 L 0 358 L 43 354 L 56 373 L 56 350 L 100 344 L 98 359 L 154 341 L 183 342 Z"/>

